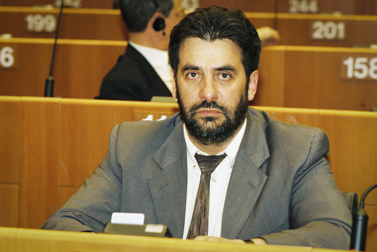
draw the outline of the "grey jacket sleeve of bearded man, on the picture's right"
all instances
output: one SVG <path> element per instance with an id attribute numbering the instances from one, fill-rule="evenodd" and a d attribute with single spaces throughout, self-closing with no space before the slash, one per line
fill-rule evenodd
<path id="1" fill-rule="evenodd" d="M 328 146 L 326 133 L 317 130 L 294 179 L 290 229 L 261 235 L 268 244 L 349 249 L 351 212 L 323 156 Z"/>

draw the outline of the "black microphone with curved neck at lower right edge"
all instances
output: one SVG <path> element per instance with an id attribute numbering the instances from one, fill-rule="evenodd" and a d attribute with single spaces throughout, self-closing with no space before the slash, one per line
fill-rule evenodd
<path id="1" fill-rule="evenodd" d="M 377 184 L 370 186 L 360 200 L 360 209 L 352 217 L 351 244 L 350 250 L 365 251 L 366 230 L 368 228 L 368 215 L 364 211 L 364 200 L 368 193 L 377 187 Z"/>

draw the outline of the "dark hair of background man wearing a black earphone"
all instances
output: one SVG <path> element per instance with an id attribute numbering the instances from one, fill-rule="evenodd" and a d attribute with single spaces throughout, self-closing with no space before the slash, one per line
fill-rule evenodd
<path id="1" fill-rule="evenodd" d="M 119 8 L 127 29 L 130 32 L 141 32 L 146 29 L 148 21 L 157 10 L 161 11 L 165 17 L 169 17 L 173 1 L 119 0 Z"/>

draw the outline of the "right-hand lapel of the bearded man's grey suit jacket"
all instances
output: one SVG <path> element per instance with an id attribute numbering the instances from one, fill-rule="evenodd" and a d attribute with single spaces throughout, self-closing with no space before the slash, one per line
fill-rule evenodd
<path id="1" fill-rule="evenodd" d="M 269 156 L 263 126 L 256 117 L 248 113 L 247 127 L 233 165 L 225 198 L 222 237 L 238 237 L 267 179 L 267 175 L 258 168 Z"/>

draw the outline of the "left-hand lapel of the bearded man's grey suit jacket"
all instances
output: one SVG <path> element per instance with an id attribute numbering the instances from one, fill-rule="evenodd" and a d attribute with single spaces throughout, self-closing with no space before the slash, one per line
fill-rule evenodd
<path id="1" fill-rule="evenodd" d="M 173 237 L 182 237 L 187 194 L 187 154 L 182 122 L 176 125 L 153 159 L 161 171 L 147 182 L 158 222 L 167 225 Z"/>

